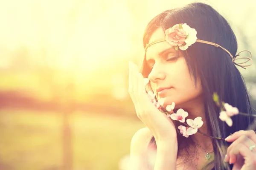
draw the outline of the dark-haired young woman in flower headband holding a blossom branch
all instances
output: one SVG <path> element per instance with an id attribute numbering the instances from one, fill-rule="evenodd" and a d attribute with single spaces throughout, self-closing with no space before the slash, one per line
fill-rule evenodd
<path id="1" fill-rule="evenodd" d="M 248 65 L 239 63 L 236 36 L 227 20 L 207 4 L 192 3 L 154 17 L 145 29 L 143 42 L 142 70 L 129 65 L 129 93 L 137 116 L 146 126 L 131 140 L 131 169 L 256 169 L 253 118 L 238 114 L 227 120 L 227 125 L 219 118 L 220 108 L 212 99 L 216 92 L 220 101 L 252 114 L 237 68 Z M 174 113 L 182 108 L 188 113 L 187 119 L 201 117 L 202 133 L 229 137 L 218 140 L 194 132 L 186 136 L 184 131 L 189 134 L 189 130 L 181 130 L 181 121 L 170 119 L 150 102 L 143 78 L 149 79 L 149 89 L 163 102 L 162 108 L 175 102 Z M 229 121 L 233 121 L 231 127 Z M 156 154 L 153 161 L 149 153 Z"/>

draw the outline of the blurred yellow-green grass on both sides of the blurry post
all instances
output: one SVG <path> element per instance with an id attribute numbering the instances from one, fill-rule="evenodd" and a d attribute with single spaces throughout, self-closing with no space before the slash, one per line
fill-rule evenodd
<path id="1" fill-rule="evenodd" d="M 72 113 L 73 170 L 118 170 L 143 123 L 127 117 Z M 0 111 L 0 166 L 6 170 L 61 170 L 62 115 Z"/>

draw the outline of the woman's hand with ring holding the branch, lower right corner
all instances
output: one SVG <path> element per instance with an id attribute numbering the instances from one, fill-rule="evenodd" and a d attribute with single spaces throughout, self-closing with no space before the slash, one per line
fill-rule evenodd
<path id="1" fill-rule="evenodd" d="M 225 161 L 233 170 L 256 170 L 256 134 L 253 130 L 240 130 L 225 139 L 233 142 L 227 148 Z"/>

